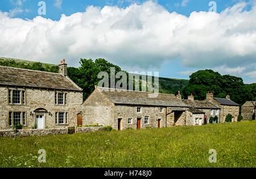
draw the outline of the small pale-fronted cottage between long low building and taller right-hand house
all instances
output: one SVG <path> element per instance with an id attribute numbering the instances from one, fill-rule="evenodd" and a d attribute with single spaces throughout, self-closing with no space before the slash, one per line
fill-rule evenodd
<path id="1" fill-rule="evenodd" d="M 210 117 L 214 118 L 214 116 L 217 116 L 218 119 L 220 119 L 221 108 L 210 101 L 194 100 L 193 94 L 191 94 L 188 99 L 183 99 L 182 101 L 189 107 L 194 107 L 195 109 L 204 112 L 205 116 L 203 118 L 203 124 L 209 123 Z M 220 120 L 218 120 L 218 122 L 220 122 Z M 216 123 L 216 121 L 213 123 Z"/>

